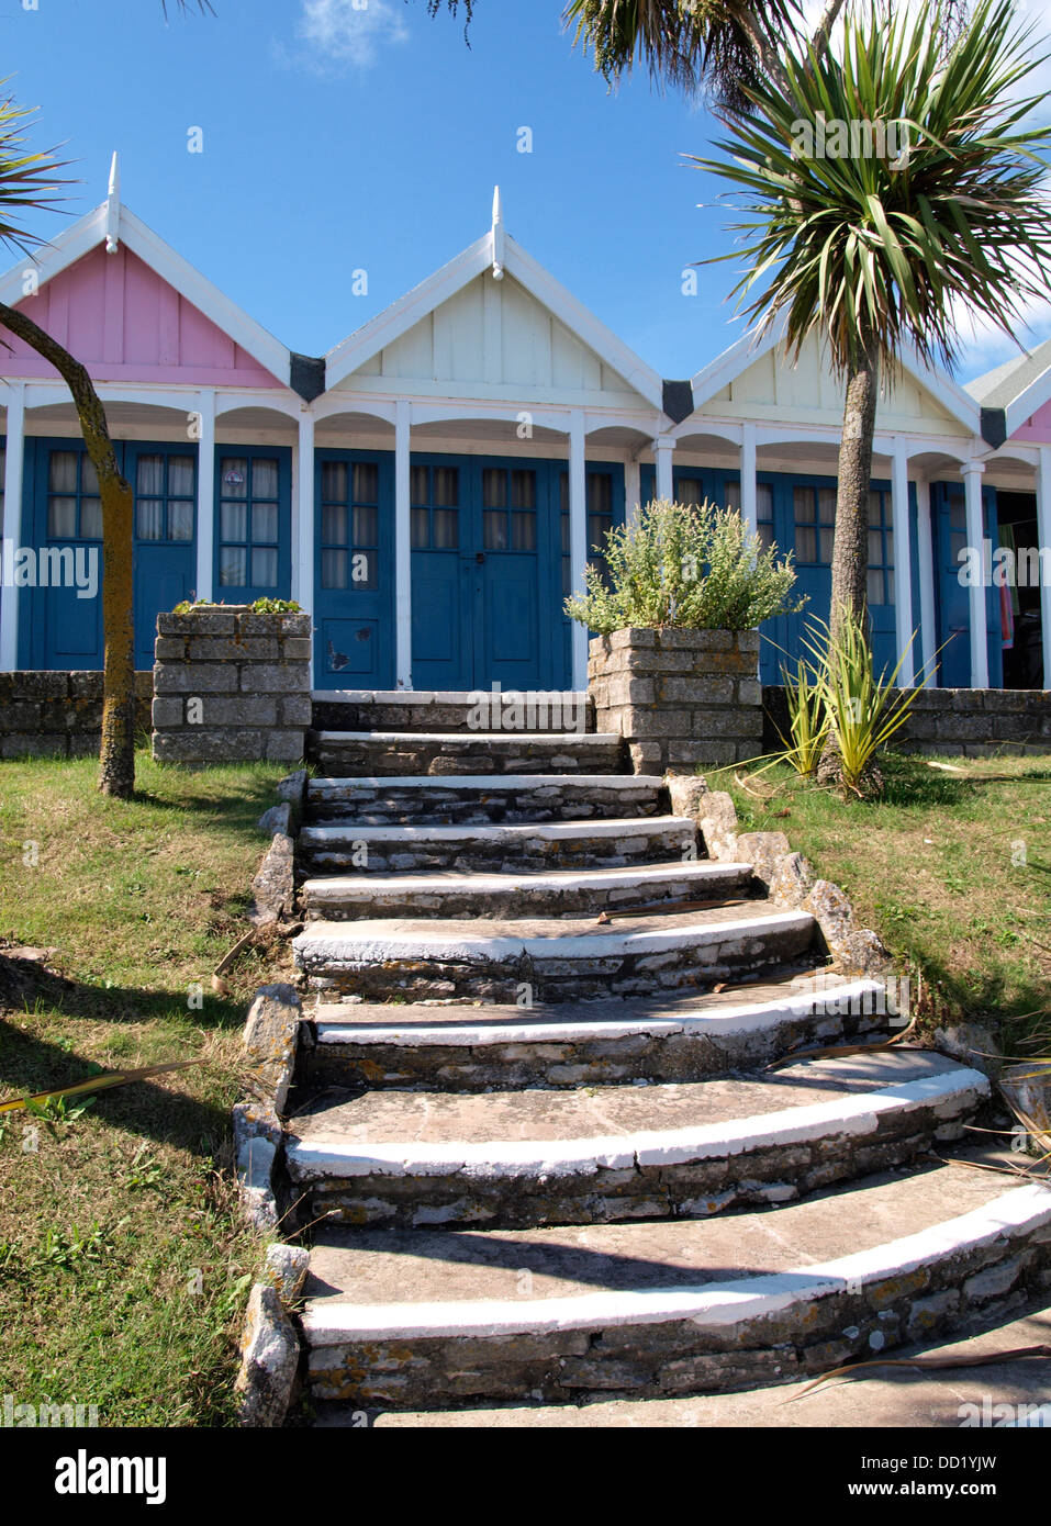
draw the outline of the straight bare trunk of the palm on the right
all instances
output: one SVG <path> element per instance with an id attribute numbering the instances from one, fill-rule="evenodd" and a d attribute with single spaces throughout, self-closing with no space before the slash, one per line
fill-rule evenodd
<path id="1" fill-rule="evenodd" d="M 843 433 L 839 447 L 836 534 L 833 539 L 833 639 L 843 609 L 865 618 L 869 572 L 869 482 L 872 432 L 880 389 L 880 353 L 875 343 L 862 351 L 846 377 Z"/>

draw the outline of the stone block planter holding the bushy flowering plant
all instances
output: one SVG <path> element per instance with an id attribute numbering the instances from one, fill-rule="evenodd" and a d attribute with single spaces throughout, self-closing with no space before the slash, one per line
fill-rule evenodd
<path id="1" fill-rule="evenodd" d="M 588 649 L 597 731 L 628 743 L 635 774 L 689 772 L 762 749 L 755 630 L 616 630 Z"/>

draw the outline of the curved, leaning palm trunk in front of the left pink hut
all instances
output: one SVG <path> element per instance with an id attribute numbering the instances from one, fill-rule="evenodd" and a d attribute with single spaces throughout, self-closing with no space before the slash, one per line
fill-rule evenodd
<path id="1" fill-rule="evenodd" d="M 31 317 L 0 302 L 0 324 L 49 360 L 66 382 L 102 499 L 102 746 L 99 789 L 128 800 L 134 790 L 134 603 L 131 487 L 116 464 L 105 409 L 87 369 Z"/>

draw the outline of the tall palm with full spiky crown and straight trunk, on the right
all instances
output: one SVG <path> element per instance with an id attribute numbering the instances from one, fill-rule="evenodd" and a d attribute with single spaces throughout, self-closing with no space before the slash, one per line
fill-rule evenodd
<path id="1" fill-rule="evenodd" d="M 949 44 L 932 0 L 912 17 L 871 6 L 836 50 L 787 53 L 785 85 L 747 87 L 749 116 L 727 118 L 732 136 L 716 145 L 729 160 L 695 159 L 744 192 L 749 220 L 733 230 L 749 269 L 733 295 L 745 314 L 761 331 L 784 319 L 790 357 L 819 336 L 845 383 L 834 635 L 845 609 L 865 618 L 881 377 L 904 345 L 952 366 L 964 311 L 1013 333 L 1025 299 L 1046 296 L 1051 209 L 1036 150 L 1051 128 L 1027 125 L 1040 96 L 1017 95 L 1042 61 L 1011 0 L 979 0 Z M 833 122 L 901 124 L 909 146 L 822 157 Z"/>

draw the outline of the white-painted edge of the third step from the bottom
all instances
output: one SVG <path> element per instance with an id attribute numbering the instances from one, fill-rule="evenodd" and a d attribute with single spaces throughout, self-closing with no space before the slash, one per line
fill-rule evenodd
<path id="1" fill-rule="evenodd" d="M 813 977 L 808 975 L 804 980 L 810 981 Z M 855 1006 L 863 1012 L 877 1010 L 875 1004 L 880 1000 L 884 1000 L 884 990 L 878 981 L 849 980 L 840 986 L 822 986 L 816 992 L 807 990 L 800 983 L 797 995 L 793 996 L 756 1003 L 727 1003 L 694 1015 L 663 1016 L 660 1009 L 655 1009 L 652 1015 L 635 1015 L 620 1021 L 596 1018 L 565 1022 L 533 1018 L 518 1022 L 451 1022 L 448 1025 L 435 1022 L 434 1027 L 399 1025 L 396 1021 L 356 1024 L 318 1019 L 315 1032 L 318 1044 L 399 1044 L 406 1048 L 422 1048 L 428 1044 L 448 1044 L 451 1048 L 460 1045 L 475 1048 L 486 1044 L 579 1044 L 587 1039 L 626 1039 L 637 1035 L 672 1038 L 678 1033 L 735 1039 L 778 1029 L 782 1022 L 813 1015 L 823 1016 L 829 1009 L 833 1013 L 851 1012 Z M 866 1006 L 868 1003 L 871 1006 Z M 608 1010 L 611 1003 L 602 1000 L 591 1003 L 591 1006 Z M 393 1010 L 396 1012 L 397 1007 Z"/>

